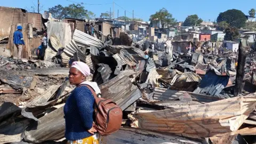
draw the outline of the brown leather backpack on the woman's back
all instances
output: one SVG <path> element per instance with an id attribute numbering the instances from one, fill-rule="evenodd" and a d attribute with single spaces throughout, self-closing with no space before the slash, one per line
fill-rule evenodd
<path id="1" fill-rule="evenodd" d="M 81 85 L 82 86 L 82 85 Z M 123 111 L 111 99 L 98 98 L 90 85 L 85 85 L 93 93 L 95 129 L 100 135 L 109 135 L 118 131 L 122 125 Z"/>

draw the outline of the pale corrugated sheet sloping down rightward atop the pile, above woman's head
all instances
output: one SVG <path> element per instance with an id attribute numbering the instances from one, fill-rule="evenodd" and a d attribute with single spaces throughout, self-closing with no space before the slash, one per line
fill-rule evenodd
<path id="1" fill-rule="evenodd" d="M 95 46 L 98 49 L 102 49 L 103 47 L 105 47 L 104 44 L 100 41 L 100 39 L 92 37 L 84 33 L 83 31 L 77 29 L 74 32 L 73 39 L 78 43 L 82 43 L 88 46 Z"/>

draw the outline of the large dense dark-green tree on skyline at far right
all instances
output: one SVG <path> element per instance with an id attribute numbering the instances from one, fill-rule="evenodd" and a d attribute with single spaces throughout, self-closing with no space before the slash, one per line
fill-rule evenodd
<path id="1" fill-rule="evenodd" d="M 221 12 L 217 18 L 217 22 L 226 21 L 231 27 L 242 28 L 245 26 L 246 17 L 240 10 L 227 10 Z"/>

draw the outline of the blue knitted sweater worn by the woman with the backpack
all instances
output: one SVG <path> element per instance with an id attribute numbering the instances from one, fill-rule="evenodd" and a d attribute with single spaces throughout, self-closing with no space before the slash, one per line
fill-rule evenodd
<path id="1" fill-rule="evenodd" d="M 91 137 L 87 132 L 93 123 L 94 97 L 86 86 L 76 87 L 64 106 L 67 140 L 80 140 Z"/>

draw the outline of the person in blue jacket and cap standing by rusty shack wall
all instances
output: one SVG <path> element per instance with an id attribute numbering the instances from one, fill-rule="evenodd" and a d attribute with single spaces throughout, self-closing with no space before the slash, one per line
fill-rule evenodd
<path id="1" fill-rule="evenodd" d="M 13 43 L 15 44 L 15 46 L 17 47 L 18 49 L 18 59 L 21 58 L 21 52 L 22 52 L 22 45 L 25 46 L 25 42 L 23 41 L 23 35 L 22 35 L 22 27 L 21 26 L 18 26 L 17 27 L 17 31 L 15 31 L 13 33 Z"/>

